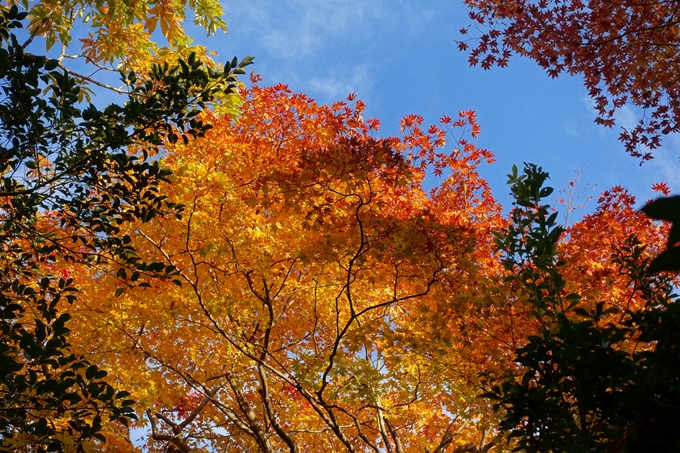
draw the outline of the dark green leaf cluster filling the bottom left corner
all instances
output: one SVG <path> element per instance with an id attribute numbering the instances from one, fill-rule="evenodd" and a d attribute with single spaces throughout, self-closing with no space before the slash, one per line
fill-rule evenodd
<path id="1" fill-rule="evenodd" d="M 30 448 L 63 451 L 70 439 L 75 451 L 91 440 L 105 441 L 102 419 L 127 426 L 135 418 L 128 392 L 104 381 L 107 372 L 70 352 L 70 315 L 61 300 L 76 297 L 73 279 L 42 277 L 39 266 L 4 262 L 0 281 L 0 451 Z"/>

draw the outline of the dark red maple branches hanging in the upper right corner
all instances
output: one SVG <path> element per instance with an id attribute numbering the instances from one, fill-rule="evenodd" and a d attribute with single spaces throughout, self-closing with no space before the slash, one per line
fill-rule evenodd
<path id="1" fill-rule="evenodd" d="M 580 74 L 595 102 L 596 123 L 615 124 L 625 105 L 642 109 L 623 129 L 626 151 L 643 161 L 665 135 L 680 131 L 678 2 L 466 0 L 480 35 L 470 64 L 506 66 L 513 53 L 529 57 L 551 77 Z M 472 27 L 463 28 L 467 34 Z M 469 41 L 459 41 L 461 50 Z"/>

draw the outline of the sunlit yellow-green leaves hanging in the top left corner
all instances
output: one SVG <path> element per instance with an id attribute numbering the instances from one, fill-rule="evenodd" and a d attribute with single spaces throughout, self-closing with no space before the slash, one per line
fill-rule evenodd
<path id="1" fill-rule="evenodd" d="M 204 46 L 194 45 L 181 22 L 189 16 L 208 35 L 214 35 L 218 30 L 226 31 L 226 24 L 222 19 L 224 12 L 218 0 L 66 0 L 31 3 L 25 0 L 6 0 L 3 3 L 7 7 L 23 8 L 28 14 L 29 35 L 24 47 L 33 43 L 36 38 L 44 41 L 47 50 L 55 44 L 59 45 L 59 56 L 56 58 L 58 67 L 79 80 L 81 100 L 92 94 L 89 84 L 123 95 L 127 92 L 125 87 L 117 88 L 113 85 L 117 82 L 115 75 L 107 78 L 80 74 L 70 67 L 73 66 L 70 64 L 72 61 L 80 60 L 80 63 L 92 66 L 100 76 L 102 71 L 104 74 L 108 71 L 115 74 L 118 64 L 125 71 L 134 71 L 143 76 L 154 63 L 173 64 L 177 57 L 186 60 L 192 53 L 205 64 L 215 67 L 208 50 Z M 163 37 L 167 39 L 167 45 L 160 45 L 152 37 L 159 25 Z M 81 46 L 75 50 L 72 41 L 78 36 L 81 36 Z"/>

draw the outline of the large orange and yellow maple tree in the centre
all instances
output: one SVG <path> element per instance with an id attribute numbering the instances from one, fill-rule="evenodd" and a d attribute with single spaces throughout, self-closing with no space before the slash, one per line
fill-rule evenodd
<path id="1" fill-rule="evenodd" d="M 134 389 L 149 451 L 489 451 L 475 376 L 504 354 L 442 315 L 493 312 L 479 294 L 500 271 L 503 220 L 476 172 L 491 155 L 455 139 L 478 133 L 474 114 L 375 138 L 360 101 L 244 96 L 238 121 L 206 112 L 205 138 L 166 148 L 161 193 L 183 220 L 125 230 L 176 281 L 78 269 L 74 345 Z M 429 194 L 428 169 L 443 176 Z"/>

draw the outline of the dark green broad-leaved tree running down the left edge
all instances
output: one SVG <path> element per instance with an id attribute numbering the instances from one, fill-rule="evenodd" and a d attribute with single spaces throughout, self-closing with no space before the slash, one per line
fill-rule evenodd
<path id="1" fill-rule="evenodd" d="M 81 110 L 81 83 L 10 32 L 25 17 L 16 6 L 0 11 L 0 450 L 83 451 L 105 440 L 106 417 L 124 425 L 134 414 L 129 393 L 70 350 L 63 308 L 77 289 L 55 263 L 112 260 L 133 272 L 119 273 L 128 284 L 135 273 L 172 272 L 137 256 L 121 227 L 178 209 L 158 192 L 169 171 L 155 155 L 210 128 L 196 116 L 234 90 L 248 60 L 216 72 L 190 57 L 153 66 L 144 83 L 123 73 L 123 106 Z"/>

